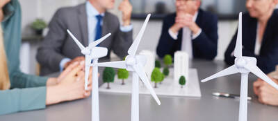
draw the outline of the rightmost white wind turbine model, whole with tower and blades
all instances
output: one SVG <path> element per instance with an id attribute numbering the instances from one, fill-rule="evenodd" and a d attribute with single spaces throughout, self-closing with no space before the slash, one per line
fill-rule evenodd
<path id="1" fill-rule="evenodd" d="M 278 90 L 278 85 L 272 82 L 270 78 L 256 66 L 255 57 L 245 57 L 242 55 L 242 12 L 239 14 L 238 21 L 238 38 L 236 40 L 236 48 L 234 50 L 234 55 L 236 57 L 235 64 L 229 68 L 220 71 L 202 80 L 202 82 L 207 82 L 208 80 L 213 80 L 216 77 L 222 77 L 224 75 L 231 75 L 234 73 L 241 73 L 241 84 L 240 84 L 240 104 L 239 104 L 239 121 L 247 121 L 247 91 L 248 91 L 248 74 L 254 73 L 257 77 L 261 78 L 275 89 Z"/>

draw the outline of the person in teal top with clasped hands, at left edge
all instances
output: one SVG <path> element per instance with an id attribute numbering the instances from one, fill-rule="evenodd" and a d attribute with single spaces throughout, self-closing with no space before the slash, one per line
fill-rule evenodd
<path id="1" fill-rule="evenodd" d="M 22 29 L 17 0 L 0 1 L 0 21 L 0 115 L 44 109 L 49 104 L 90 95 L 91 81 L 89 90 L 84 89 L 84 64 L 71 64 L 58 78 L 26 75 L 20 71 Z"/>

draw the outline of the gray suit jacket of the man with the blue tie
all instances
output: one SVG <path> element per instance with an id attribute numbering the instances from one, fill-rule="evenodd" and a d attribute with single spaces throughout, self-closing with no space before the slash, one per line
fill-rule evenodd
<path id="1" fill-rule="evenodd" d="M 71 30 L 74 36 L 84 46 L 88 46 L 88 22 L 85 3 L 75 6 L 60 8 L 49 23 L 49 32 L 38 48 L 37 60 L 40 63 L 40 75 L 48 75 L 60 70 L 59 64 L 65 57 L 74 59 L 83 56 L 81 50 L 67 34 Z M 99 46 L 108 48 L 108 55 L 100 61 L 110 59 L 111 50 L 123 58 L 132 44 L 132 30 L 122 32 L 120 22 L 115 15 L 106 12 L 103 18 L 102 35 L 111 32 L 111 37 L 104 40 Z"/>

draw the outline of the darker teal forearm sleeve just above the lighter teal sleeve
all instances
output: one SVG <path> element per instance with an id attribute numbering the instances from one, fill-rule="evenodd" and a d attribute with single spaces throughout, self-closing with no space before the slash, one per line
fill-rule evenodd
<path id="1" fill-rule="evenodd" d="M 15 71 L 10 74 L 10 85 L 11 89 L 14 88 L 28 88 L 28 87 L 38 87 L 46 86 L 47 77 L 38 77 L 36 75 L 27 75 L 21 71 Z"/>

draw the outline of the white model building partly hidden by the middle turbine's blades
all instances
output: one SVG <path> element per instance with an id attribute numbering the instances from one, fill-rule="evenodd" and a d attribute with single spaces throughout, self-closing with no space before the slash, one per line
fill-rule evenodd
<path id="1" fill-rule="evenodd" d="M 156 55 L 154 52 L 150 50 L 141 50 L 139 55 L 145 55 L 147 57 L 147 63 L 145 64 L 145 72 L 147 73 L 147 77 L 151 80 L 152 71 L 154 70 Z"/>

